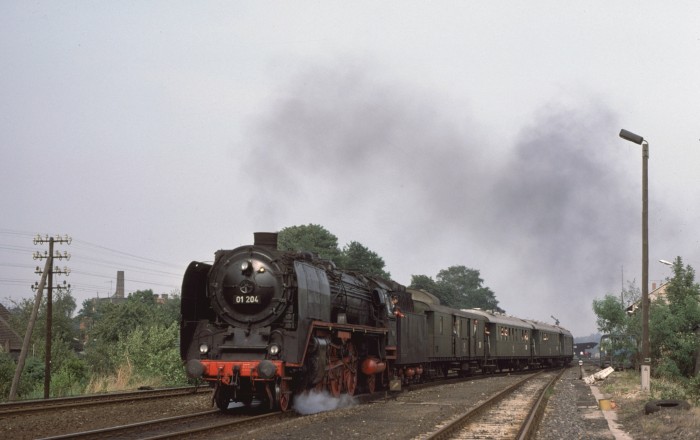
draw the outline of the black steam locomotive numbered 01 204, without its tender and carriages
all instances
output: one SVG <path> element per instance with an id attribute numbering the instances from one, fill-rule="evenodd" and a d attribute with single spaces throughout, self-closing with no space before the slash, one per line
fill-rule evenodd
<path id="1" fill-rule="evenodd" d="M 277 249 L 277 234 L 192 262 L 183 279 L 180 354 L 214 401 L 287 410 L 292 396 L 374 391 L 396 355 L 393 281 L 338 270 L 308 252 Z"/>

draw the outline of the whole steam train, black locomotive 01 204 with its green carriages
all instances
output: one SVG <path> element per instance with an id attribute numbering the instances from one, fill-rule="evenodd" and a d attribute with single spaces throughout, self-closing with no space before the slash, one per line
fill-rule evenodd
<path id="1" fill-rule="evenodd" d="M 255 399 L 284 411 L 309 390 L 352 395 L 573 357 L 561 327 L 449 309 L 427 292 L 279 251 L 274 233 L 218 251 L 213 265 L 191 263 L 181 314 L 187 373 L 214 387 L 222 410 Z"/>

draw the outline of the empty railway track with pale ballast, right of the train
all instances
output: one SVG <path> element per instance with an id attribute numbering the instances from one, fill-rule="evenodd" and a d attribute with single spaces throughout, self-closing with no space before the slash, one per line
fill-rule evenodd
<path id="1" fill-rule="evenodd" d="M 527 376 L 424 439 L 529 438 L 544 410 L 546 390 L 564 371 Z"/>

